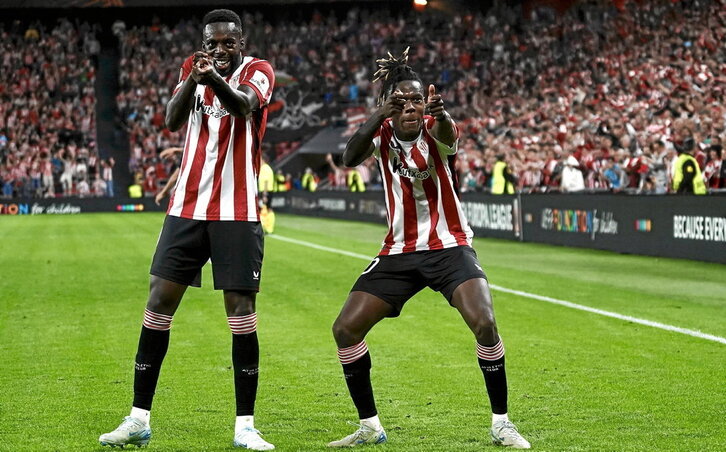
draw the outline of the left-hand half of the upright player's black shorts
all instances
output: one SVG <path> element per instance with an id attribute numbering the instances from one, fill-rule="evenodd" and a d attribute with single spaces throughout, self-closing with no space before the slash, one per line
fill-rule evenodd
<path id="1" fill-rule="evenodd" d="M 167 215 L 156 243 L 150 273 L 185 286 L 199 286 L 209 260 L 206 222 Z"/>

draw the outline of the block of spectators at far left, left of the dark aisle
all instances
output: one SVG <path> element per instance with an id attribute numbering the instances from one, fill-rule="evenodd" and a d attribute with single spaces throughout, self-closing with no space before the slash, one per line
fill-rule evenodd
<path id="1" fill-rule="evenodd" d="M 3 198 L 112 195 L 113 161 L 95 146 L 97 29 L 0 25 Z"/>

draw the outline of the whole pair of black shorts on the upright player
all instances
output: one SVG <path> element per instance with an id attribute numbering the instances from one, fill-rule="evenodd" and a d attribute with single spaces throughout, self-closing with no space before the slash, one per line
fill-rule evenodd
<path id="1" fill-rule="evenodd" d="M 167 215 L 150 273 L 186 286 L 201 286 L 211 259 L 217 290 L 259 291 L 264 233 L 259 222 L 200 221 Z"/>

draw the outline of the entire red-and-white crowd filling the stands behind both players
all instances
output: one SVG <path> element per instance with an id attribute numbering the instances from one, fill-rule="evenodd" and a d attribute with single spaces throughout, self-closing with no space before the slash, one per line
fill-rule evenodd
<path id="1" fill-rule="evenodd" d="M 505 1 L 486 12 L 446 14 L 353 7 L 274 22 L 245 13 L 243 22 L 252 24 L 247 52 L 270 60 L 279 83 L 295 84 L 340 115 L 350 107 L 359 116 L 375 108 L 375 59 L 410 45 L 409 63 L 437 85 L 460 126 L 464 191 L 488 190 L 499 158 L 523 192 L 666 193 L 676 149 L 688 136 L 707 185 L 726 187 L 723 0 L 589 0 L 562 14 L 535 8 L 526 17 L 521 5 Z M 114 24 L 128 168 L 148 195 L 173 170 L 159 152 L 183 145 L 183 131 L 164 127 L 164 106 L 179 67 L 196 50 L 199 26 L 198 19 L 172 25 L 158 18 L 128 29 Z M 59 191 L 33 177 L 34 163 L 40 168 L 46 161 L 55 162 L 50 167 L 63 193 L 79 191 L 84 179 L 99 189 L 104 182 L 93 179 L 103 172 L 92 139 L 93 32 L 68 21 L 49 33 L 36 30 L 37 37 L 31 30 L 3 31 L 2 64 L 14 69 L 0 75 L 0 178 L 14 184 L 15 194 L 17 187 L 26 194 Z M 53 89 L 37 90 L 40 84 Z M 269 154 L 297 144 L 273 145 L 281 151 Z M 65 175 L 72 166 L 65 162 L 78 164 L 78 154 L 86 153 L 88 176 Z M 378 182 L 373 167 L 359 168 L 369 186 Z M 328 186 L 344 185 L 336 173 Z"/>

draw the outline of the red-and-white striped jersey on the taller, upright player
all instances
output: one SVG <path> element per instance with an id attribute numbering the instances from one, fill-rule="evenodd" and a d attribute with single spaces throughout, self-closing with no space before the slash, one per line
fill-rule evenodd
<path id="1" fill-rule="evenodd" d="M 192 57 L 187 58 L 174 93 L 189 77 L 192 65 Z M 248 56 L 225 80 L 232 89 L 240 85 L 252 88 L 260 108 L 244 118 L 234 117 L 211 88 L 197 86 L 169 215 L 193 220 L 260 221 L 257 176 L 275 74 L 270 63 Z"/>

